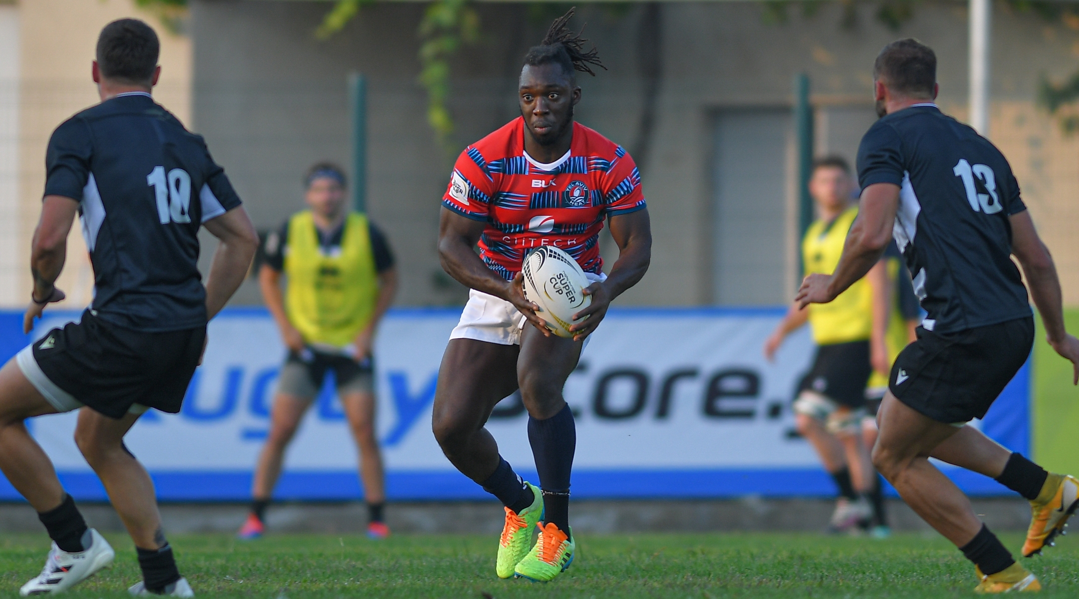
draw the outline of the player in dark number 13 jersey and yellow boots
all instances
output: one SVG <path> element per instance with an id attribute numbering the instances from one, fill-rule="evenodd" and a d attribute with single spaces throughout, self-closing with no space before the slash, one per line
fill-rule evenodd
<path id="1" fill-rule="evenodd" d="M 1014 255 L 1030 285 L 1048 342 L 1074 364 L 1079 340 L 1064 330 L 1061 285 L 1003 155 L 945 116 L 937 56 L 916 40 L 893 42 L 873 69 L 882 119 L 858 151 L 861 210 L 832 275 L 810 275 L 797 302 L 828 303 L 860 279 L 894 235 L 928 312 L 917 340 L 896 359 L 880 403 L 873 463 L 904 501 L 975 566 L 976 590 L 1038 590 L 929 458 L 995 478 L 1030 501 L 1023 555 L 1052 544 L 1079 506 L 1079 480 L 1046 472 L 968 422 L 1026 362 L 1034 318 Z"/>

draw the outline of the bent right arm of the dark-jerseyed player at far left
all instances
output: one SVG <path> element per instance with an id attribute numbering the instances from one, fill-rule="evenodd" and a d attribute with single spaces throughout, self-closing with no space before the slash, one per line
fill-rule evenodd
<path id="1" fill-rule="evenodd" d="M 221 311 L 244 282 L 259 247 L 259 235 L 243 206 L 206 221 L 204 226 L 220 241 L 206 277 L 206 319 L 209 320 Z"/>

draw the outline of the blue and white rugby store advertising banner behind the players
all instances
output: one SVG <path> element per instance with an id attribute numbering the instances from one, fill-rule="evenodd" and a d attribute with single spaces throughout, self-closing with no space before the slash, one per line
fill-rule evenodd
<path id="1" fill-rule="evenodd" d="M 790 402 L 812 344 L 792 335 L 775 362 L 762 353 L 780 308 L 612 309 L 565 386 L 577 420 L 575 498 L 833 496 L 831 478 L 793 432 Z M 489 499 L 442 456 L 431 432 L 438 365 L 460 309 L 396 309 L 375 345 L 377 428 L 391 500 Z M 29 338 L 79 318 L 46 312 L 31 336 L 22 315 L 0 312 L 0 358 Z M 209 326 L 203 366 L 180 414 L 150 412 L 126 444 L 163 501 L 243 501 L 267 436 L 285 356 L 261 308 L 231 308 Z M 1013 450 L 1029 447 L 1029 364 L 976 422 Z M 72 441 L 76 415 L 35 418 L 30 430 L 77 499 L 106 500 Z M 488 429 L 503 456 L 534 479 L 527 415 L 518 396 Z M 276 497 L 336 501 L 361 497 L 356 449 L 344 414 L 324 387 L 289 451 Z M 974 494 L 1008 492 L 984 476 L 946 468 Z M 0 500 L 19 500 L 0 477 Z"/>

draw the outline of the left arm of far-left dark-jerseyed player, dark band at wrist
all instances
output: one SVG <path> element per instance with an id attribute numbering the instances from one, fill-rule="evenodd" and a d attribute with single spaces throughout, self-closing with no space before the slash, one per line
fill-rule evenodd
<path id="1" fill-rule="evenodd" d="M 45 305 L 64 300 L 64 292 L 53 283 L 64 269 L 67 257 L 67 236 L 71 232 L 79 203 L 70 197 L 47 195 L 41 204 L 41 220 L 33 231 L 30 248 L 30 273 L 33 275 L 33 291 L 30 307 L 23 318 L 23 332 L 29 333 L 33 319 L 41 318 Z"/>

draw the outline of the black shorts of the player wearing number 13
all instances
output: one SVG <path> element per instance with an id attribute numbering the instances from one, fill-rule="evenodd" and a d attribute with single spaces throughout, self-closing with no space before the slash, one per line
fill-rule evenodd
<path id="1" fill-rule="evenodd" d="M 912 409 L 948 424 L 982 418 L 1034 347 L 1034 318 L 955 333 L 921 326 L 891 366 L 888 389 Z"/>

